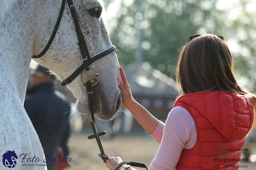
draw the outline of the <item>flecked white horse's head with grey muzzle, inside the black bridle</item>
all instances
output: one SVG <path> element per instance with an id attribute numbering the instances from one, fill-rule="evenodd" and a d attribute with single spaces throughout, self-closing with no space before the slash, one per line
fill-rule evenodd
<path id="1" fill-rule="evenodd" d="M 108 31 L 101 18 L 102 2 L 98 0 L 74 0 L 73 3 L 89 55 L 93 56 L 111 47 Z M 36 23 L 37 35 L 34 38 L 33 55 L 38 55 L 45 48 L 61 6 L 59 2 L 45 5 L 55 12 L 45 13 L 44 8 L 42 8 L 39 9 L 38 16 L 35 16 L 38 17 L 38 22 Z M 77 44 L 75 24 L 69 8 L 70 6 L 66 3 L 58 31 L 48 51 L 41 58 L 34 59 L 52 70 L 61 80 L 67 79 L 83 64 L 81 51 Z M 117 55 L 113 52 L 95 61 L 89 67 L 98 70 L 100 74 L 98 84 L 92 87 L 94 114 L 102 120 L 111 119 L 122 103 L 122 94 L 117 86 L 117 80 L 122 81 Z M 81 78 L 86 80 L 94 74 L 94 70 L 89 70 L 83 73 Z M 67 86 L 77 98 L 76 110 L 80 113 L 89 114 L 87 92 L 80 76 L 77 76 Z"/>

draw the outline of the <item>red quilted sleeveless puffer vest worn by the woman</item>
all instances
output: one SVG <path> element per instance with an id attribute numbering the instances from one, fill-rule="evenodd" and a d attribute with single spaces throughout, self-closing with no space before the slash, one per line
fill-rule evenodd
<path id="1" fill-rule="evenodd" d="M 243 147 L 253 124 L 251 102 L 228 92 L 205 91 L 179 97 L 176 106 L 182 106 L 190 113 L 197 130 L 195 146 L 183 149 L 176 169 L 238 169 L 241 151 L 236 149 Z M 227 161 L 220 162 L 221 159 Z"/>

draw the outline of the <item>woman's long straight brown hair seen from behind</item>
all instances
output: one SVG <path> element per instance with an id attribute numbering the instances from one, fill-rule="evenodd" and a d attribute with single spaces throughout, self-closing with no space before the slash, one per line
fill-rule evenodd
<path id="1" fill-rule="evenodd" d="M 256 96 L 237 83 L 233 58 L 227 44 L 214 34 L 204 34 L 189 41 L 180 53 L 176 81 L 183 94 L 199 91 L 226 91 L 251 100 L 254 109 L 252 132 L 256 124 Z M 248 133 L 248 134 L 249 134 Z"/>

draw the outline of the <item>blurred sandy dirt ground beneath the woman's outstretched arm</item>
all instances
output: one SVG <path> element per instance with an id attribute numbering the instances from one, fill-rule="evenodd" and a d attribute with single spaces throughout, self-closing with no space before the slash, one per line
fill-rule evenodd
<path id="1" fill-rule="evenodd" d="M 99 149 L 95 139 L 87 139 L 90 133 L 72 134 L 69 139 L 70 155 L 73 162 L 65 170 L 108 170 L 98 156 Z M 149 167 L 155 157 L 159 144 L 147 133 L 134 133 L 126 136 L 115 136 L 112 139 L 101 139 L 105 154 L 120 156 L 123 161 L 144 163 Z M 241 170 L 255 170 L 252 164 Z M 141 170 L 142 168 L 138 168 Z M 239 170 L 240 170 L 239 169 Z"/>

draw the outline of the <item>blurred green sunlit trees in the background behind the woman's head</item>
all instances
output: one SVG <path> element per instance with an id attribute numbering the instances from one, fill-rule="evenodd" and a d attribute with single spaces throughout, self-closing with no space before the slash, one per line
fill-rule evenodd
<path id="1" fill-rule="evenodd" d="M 115 0 L 107 0 L 111 5 Z M 135 67 L 136 49 L 142 46 L 142 60 L 171 75 L 179 49 L 193 34 L 222 35 L 232 46 L 236 71 L 247 82 L 255 82 L 256 21 L 253 0 L 228 4 L 221 0 L 119 0 L 110 38 L 120 50 L 120 65 Z M 254 4 L 255 6 L 255 4 Z M 108 10 L 108 9 L 107 9 Z M 138 41 L 139 28 L 143 31 Z M 249 74 L 248 74 L 249 73 Z M 245 80 L 244 78 L 242 80 Z"/>

